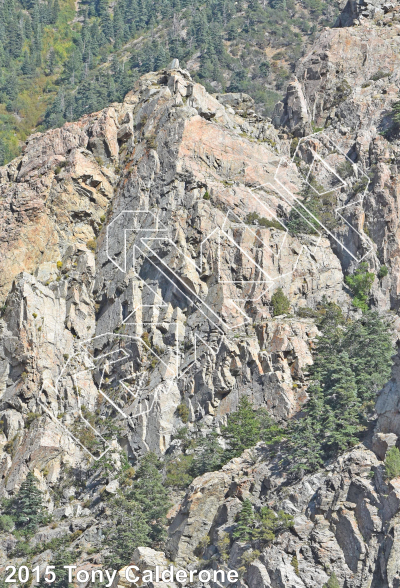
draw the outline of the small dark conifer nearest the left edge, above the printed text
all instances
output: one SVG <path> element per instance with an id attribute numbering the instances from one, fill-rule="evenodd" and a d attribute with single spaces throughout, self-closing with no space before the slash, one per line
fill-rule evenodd
<path id="1" fill-rule="evenodd" d="M 36 482 L 35 476 L 29 472 L 9 507 L 16 526 L 28 533 L 34 532 L 45 518 L 43 494 Z"/>

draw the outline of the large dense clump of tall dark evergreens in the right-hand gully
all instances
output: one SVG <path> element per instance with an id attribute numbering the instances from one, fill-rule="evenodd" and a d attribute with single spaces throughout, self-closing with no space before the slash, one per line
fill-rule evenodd
<path id="1" fill-rule="evenodd" d="M 322 335 L 310 369 L 310 398 L 291 426 L 293 470 L 318 469 L 357 443 L 372 400 L 391 373 L 390 335 L 377 313 L 346 324 L 335 304 L 325 302 L 318 312 Z"/>

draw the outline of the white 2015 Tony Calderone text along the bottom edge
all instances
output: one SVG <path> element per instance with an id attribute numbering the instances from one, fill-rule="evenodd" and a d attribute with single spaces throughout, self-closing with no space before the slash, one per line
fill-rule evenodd
<path id="1" fill-rule="evenodd" d="M 87 584 L 88 582 L 98 582 L 105 584 L 105 588 L 110 588 L 116 580 L 117 570 L 77 570 L 78 566 L 63 566 L 64 570 L 68 571 L 68 582 L 78 581 L 80 584 Z M 239 574 L 236 570 L 183 570 L 177 569 L 173 565 L 170 565 L 167 569 L 161 566 L 156 566 L 153 570 L 140 570 L 137 566 L 131 565 L 123 570 L 121 573 L 125 575 L 125 578 L 130 583 L 137 582 L 180 582 L 182 584 L 186 582 L 194 582 L 200 580 L 200 582 L 220 582 L 223 585 L 226 581 L 234 583 L 238 580 Z M 48 584 L 52 584 L 57 579 L 57 571 L 54 566 L 43 567 L 36 566 L 30 570 L 27 566 L 15 566 L 6 567 L 6 578 L 5 581 L 25 583 L 30 579 L 34 578 L 37 582 L 43 577 Z"/>

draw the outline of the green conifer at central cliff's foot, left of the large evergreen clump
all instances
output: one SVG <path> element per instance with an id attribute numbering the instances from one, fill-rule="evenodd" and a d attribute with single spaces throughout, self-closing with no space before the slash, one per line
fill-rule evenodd
<path id="1" fill-rule="evenodd" d="M 254 447 L 260 440 L 260 420 L 246 396 L 242 396 L 238 410 L 228 416 L 222 435 L 229 445 L 230 459 L 239 457 L 245 449 Z"/>

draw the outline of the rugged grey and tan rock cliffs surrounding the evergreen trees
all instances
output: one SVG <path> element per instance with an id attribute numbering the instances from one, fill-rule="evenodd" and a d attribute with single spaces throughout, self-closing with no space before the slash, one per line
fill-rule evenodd
<path id="1" fill-rule="evenodd" d="M 34 472 L 58 527 L 33 542 L 74 533 L 78 564 L 95 569 L 119 485 L 112 473 L 82 483 L 88 460 L 163 457 L 183 425 L 218 431 L 243 396 L 280 422 L 301 410 L 310 309 L 327 298 L 354 312 L 344 273 L 360 261 L 387 267 L 372 304 L 398 310 L 399 147 L 380 134 L 398 93 L 398 25 L 386 12 L 382 26 L 320 35 L 276 107 L 278 130 L 246 94 L 210 95 L 174 60 L 122 104 L 30 137 L 0 169 L 0 496 Z M 311 169 L 331 216 L 289 232 Z M 290 315 L 274 316 L 278 288 Z M 253 561 L 229 546 L 237 588 L 320 588 L 332 571 L 346 588 L 398 586 L 400 489 L 382 464 L 400 435 L 397 363 L 370 446 L 300 481 L 277 448 L 246 452 L 175 500 L 165 554 L 139 548 L 132 561 L 212 567 L 249 498 L 294 526 Z M 14 546 L 4 533 L 0 566 Z"/>

